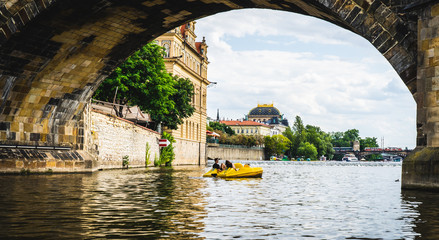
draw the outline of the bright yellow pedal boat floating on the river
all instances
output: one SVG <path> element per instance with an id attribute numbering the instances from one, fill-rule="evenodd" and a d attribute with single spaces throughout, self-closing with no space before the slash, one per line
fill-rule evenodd
<path id="1" fill-rule="evenodd" d="M 228 168 L 218 173 L 217 169 L 211 169 L 203 175 L 203 177 L 220 177 L 220 178 L 258 178 L 262 177 L 263 169 L 261 167 L 250 167 L 235 163 L 235 169 Z"/>

